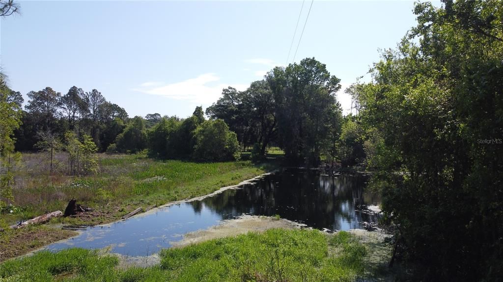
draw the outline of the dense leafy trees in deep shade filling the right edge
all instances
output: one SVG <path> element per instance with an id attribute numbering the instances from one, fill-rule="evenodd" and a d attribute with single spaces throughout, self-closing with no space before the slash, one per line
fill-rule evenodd
<path id="1" fill-rule="evenodd" d="M 427 280 L 497 280 L 503 2 L 421 3 L 414 13 L 417 27 L 383 52 L 357 93 L 373 184 L 405 258 Z"/>

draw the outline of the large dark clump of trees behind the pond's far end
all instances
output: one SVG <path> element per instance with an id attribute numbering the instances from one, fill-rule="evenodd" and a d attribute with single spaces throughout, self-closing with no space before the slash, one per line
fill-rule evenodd
<path id="1" fill-rule="evenodd" d="M 322 154 L 339 156 L 334 142 L 342 123 L 339 82 L 324 64 L 307 58 L 274 68 L 245 91 L 224 89 L 206 113 L 223 119 L 241 145 L 254 145 L 254 156 L 264 157 L 273 143 L 290 164 L 317 166 Z"/>

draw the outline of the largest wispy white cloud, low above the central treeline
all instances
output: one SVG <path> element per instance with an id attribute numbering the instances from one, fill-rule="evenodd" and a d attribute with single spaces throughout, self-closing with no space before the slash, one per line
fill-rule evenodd
<path id="1" fill-rule="evenodd" d="M 191 103 L 208 105 L 216 102 L 222 94 L 222 89 L 227 88 L 228 86 L 232 86 L 240 91 L 245 90 L 248 87 L 247 84 L 218 83 L 213 85 L 213 82 L 217 82 L 219 80 L 220 77 L 216 76 L 214 73 L 206 73 L 196 78 L 187 79 L 181 82 L 170 84 L 161 83 L 161 86 L 152 86 L 146 82 L 142 83 L 140 88 L 134 88 L 132 90 L 151 95 L 164 96 L 176 100 L 186 100 Z"/>

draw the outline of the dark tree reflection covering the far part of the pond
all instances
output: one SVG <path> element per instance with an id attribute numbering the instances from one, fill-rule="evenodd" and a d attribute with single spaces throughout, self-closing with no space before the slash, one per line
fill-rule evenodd
<path id="1" fill-rule="evenodd" d="M 301 222 L 318 229 L 363 228 L 374 215 L 357 211 L 361 205 L 378 204 L 379 198 L 364 193 L 367 177 L 320 175 L 317 171 L 287 170 L 269 175 L 239 190 L 228 190 L 190 203 L 197 213 L 206 206 L 222 219 L 241 214 L 273 216 Z"/>

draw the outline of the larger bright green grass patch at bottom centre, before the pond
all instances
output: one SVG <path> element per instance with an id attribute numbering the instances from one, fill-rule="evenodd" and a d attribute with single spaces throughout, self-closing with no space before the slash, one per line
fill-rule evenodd
<path id="1" fill-rule="evenodd" d="M 346 251 L 352 250 L 340 255 Z M 364 252 L 349 256 L 358 255 Z M 358 264 L 329 255 L 327 238 L 318 230 L 271 229 L 166 249 L 161 257 L 173 281 L 350 281 L 361 271 Z"/>

